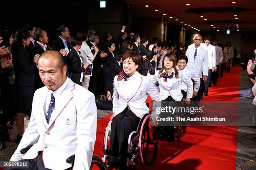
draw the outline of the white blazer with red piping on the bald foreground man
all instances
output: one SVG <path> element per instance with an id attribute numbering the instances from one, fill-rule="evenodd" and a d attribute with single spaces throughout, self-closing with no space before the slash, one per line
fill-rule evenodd
<path id="1" fill-rule="evenodd" d="M 48 89 L 44 86 L 36 90 L 28 128 L 10 161 L 31 160 L 38 156 L 39 151 L 43 151 L 42 159 L 46 168 L 70 168 L 72 164 L 66 160 L 75 155 L 73 170 L 90 169 L 97 127 L 95 97 L 92 92 L 67 79 L 67 86 L 59 97 L 59 104 L 55 106 L 49 124 L 44 113 Z M 33 146 L 22 155 L 20 150 L 29 145 Z"/>

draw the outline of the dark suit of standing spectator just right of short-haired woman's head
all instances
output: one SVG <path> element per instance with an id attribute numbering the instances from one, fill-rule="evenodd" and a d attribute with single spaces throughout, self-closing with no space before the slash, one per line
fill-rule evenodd
<path id="1" fill-rule="evenodd" d="M 152 51 L 148 50 L 148 48 L 143 44 L 140 46 L 139 49 L 141 51 L 142 56 L 143 55 L 147 56 L 144 60 L 142 60 L 142 65 L 141 65 L 141 74 L 147 76 L 148 70 L 151 67 L 150 58 L 151 58 L 151 55 L 152 55 Z"/>

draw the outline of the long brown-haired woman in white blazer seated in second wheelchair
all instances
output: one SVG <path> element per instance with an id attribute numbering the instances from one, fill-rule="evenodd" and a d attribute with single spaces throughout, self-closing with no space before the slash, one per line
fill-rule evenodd
<path id="1" fill-rule="evenodd" d="M 159 82 L 160 97 L 162 101 L 161 107 L 179 107 L 182 100 L 181 83 L 184 82 L 187 85 L 187 97 L 185 100 L 190 101 L 192 98 L 192 81 L 182 71 L 178 71 L 176 68 L 176 60 L 174 55 L 166 54 L 163 58 L 161 70 L 156 71 L 152 78 L 153 84 Z M 164 101 L 164 102 L 163 102 Z M 176 101 L 176 102 L 175 102 Z M 160 117 L 172 116 L 176 113 L 161 112 Z M 170 123 L 170 122 L 168 122 Z M 174 123 L 174 122 L 171 122 Z M 159 138 L 160 140 L 167 140 L 168 142 L 174 141 L 174 126 L 171 124 L 166 125 L 164 122 L 159 122 Z"/>

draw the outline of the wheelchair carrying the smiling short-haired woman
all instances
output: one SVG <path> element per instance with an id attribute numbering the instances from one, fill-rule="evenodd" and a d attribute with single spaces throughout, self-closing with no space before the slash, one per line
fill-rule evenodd
<path id="1" fill-rule="evenodd" d="M 110 118 L 111 120 L 113 120 L 113 116 Z M 126 165 L 124 165 L 126 168 L 133 169 L 136 164 L 148 168 L 154 164 L 158 149 L 158 136 L 156 128 L 151 128 L 151 122 L 149 114 L 143 115 L 137 129 L 130 133 L 127 143 Z M 109 135 L 110 129 L 107 129 L 102 142 L 104 150 L 102 160 L 105 165 L 110 155 L 110 148 L 108 148 L 108 145 L 110 145 Z"/>

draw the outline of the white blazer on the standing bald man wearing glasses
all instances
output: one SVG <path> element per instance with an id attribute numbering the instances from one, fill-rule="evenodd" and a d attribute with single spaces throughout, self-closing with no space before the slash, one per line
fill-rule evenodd
<path id="1" fill-rule="evenodd" d="M 194 48 L 187 49 L 186 56 L 188 58 L 187 67 L 194 68 L 197 71 L 198 76 L 201 78 L 202 72 L 203 75 L 208 76 L 208 52 L 202 47 L 200 48 L 200 52 L 197 52 L 195 59 L 193 53 Z"/>

